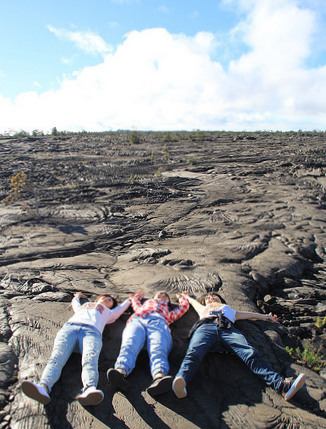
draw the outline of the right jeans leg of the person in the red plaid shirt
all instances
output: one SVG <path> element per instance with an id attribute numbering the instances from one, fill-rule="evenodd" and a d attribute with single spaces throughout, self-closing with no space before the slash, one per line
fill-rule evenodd
<path id="1" fill-rule="evenodd" d="M 152 377 L 169 373 L 168 356 L 172 348 L 172 336 L 164 319 L 149 315 L 147 324 L 147 351 Z"/>

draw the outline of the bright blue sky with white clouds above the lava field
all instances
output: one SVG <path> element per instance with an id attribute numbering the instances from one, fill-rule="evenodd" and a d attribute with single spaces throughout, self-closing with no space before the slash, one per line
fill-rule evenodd
<path id="1" fill-rule="evenodd" d="M 324 0 L 0 0 L 0 132 L 326 129 Z"/>

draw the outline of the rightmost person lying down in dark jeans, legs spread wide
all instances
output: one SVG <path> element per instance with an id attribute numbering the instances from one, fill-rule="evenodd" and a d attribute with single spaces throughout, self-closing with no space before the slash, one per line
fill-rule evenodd
<path id="1" fill-rule="evenodd" d="M 268 386 L 273 387 L 286 400 L 298 392 L 304 385 L 306 376 L 300 374 L 295 380 L 283 378 L 274 371 L 270 364 L 246 340 L 244 335 L 235 329 L 237 320 L 270 320 L 277 322 L 272 314 L 236 311 L 222 303 L 216 293 L 203 297 L 203 305 L 188 297 L 190 304 L 199 314 L 199 321 L 193 326 L 191 340 L 181 367 L 173 381 L 172 389 L 177 398 L 187 396 L 186 386 L 195 375 L 205 355 L 209 352 L 231 352 L 238 356 L 254 374 L 262 378 Z"/>

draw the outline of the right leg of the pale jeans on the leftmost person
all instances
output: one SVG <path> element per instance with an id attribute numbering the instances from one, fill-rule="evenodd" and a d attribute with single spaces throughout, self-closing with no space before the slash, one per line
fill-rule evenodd
<path id="1" fill-rule="evenodd" d="M 82 354 L 83 390 L 97 387 L 98 360 L 102 349 L 102 335 L 92 326 L 82 326 L 79 332 L 79 348 Z"/>

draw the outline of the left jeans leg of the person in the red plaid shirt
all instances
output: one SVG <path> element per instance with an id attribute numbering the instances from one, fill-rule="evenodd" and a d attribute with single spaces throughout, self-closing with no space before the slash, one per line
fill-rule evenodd
<path id="1" fill-rule="evenodd" d="M 134 369 L 137 356 L 145 344 L 146 327 L 143 320 L 139 316 L 134 316 L 122 334 L 120 353 L 114 367 L 124 369 L 127 375 Z"/>

